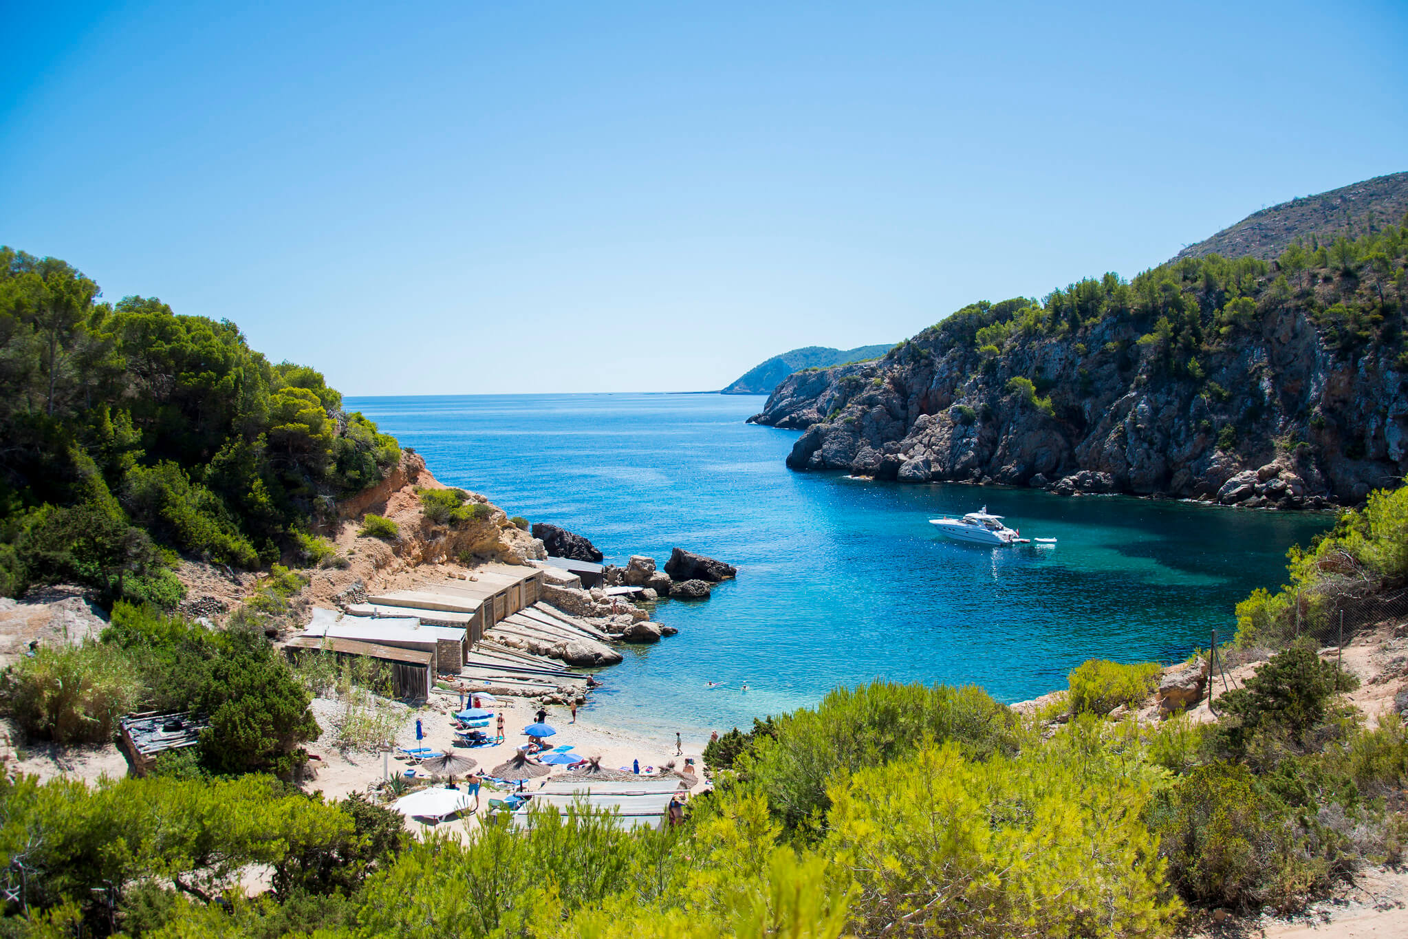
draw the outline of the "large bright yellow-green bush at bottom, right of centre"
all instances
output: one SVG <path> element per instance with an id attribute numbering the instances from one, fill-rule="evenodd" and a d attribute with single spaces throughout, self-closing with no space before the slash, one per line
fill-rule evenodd
<path id="1" fill-rule="evenodd" d="M 856 932 L 1163 933 L 1181 904 L 1140 822 L 1146 790 L 1043 756 L 926 745 L 832 784 L 821 850 L 860 887 Z"/>

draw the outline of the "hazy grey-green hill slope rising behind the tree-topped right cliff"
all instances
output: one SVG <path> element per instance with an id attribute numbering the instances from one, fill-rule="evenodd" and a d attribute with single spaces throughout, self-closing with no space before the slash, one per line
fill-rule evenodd
<path id="1" fill-rule="evenodd" d="M 1174 260 L 1243 255 L 1271 260 L 1300 241 L 1316 246 L 1336 238 L 1374 234 L 1408 213 L 1408 173 L 1376 176 L 1318 196 L 1293 198 L 1252 213 L 1211 238 L 1180 251 Z"/>

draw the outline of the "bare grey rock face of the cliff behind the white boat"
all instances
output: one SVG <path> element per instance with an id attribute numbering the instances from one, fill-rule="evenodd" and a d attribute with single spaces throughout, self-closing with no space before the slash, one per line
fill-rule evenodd
<path id="1" fill-rule="evenodd" d="M 1200 348 L 1191 372 L 1140 345 L 1155 328 L 1145 314 L 1000 331 L 993 355 L 973 331 L 1014 327 L 1025 304 L 1007 301 L 881 359 L 796 373 L 749 421 L 804 431 L 787 456 L 796 470 L 1249 508 L 1357 504 L 1408 476 L 1402 366 L 1390 344 L 1347 355 L 1326 332 L 1314 310 L 1335 300 L 1309 294 L 1338 287 L 1274 298 L 1274 279 L 1255 320 Z M 1184 296 L 1214 315 L 1195 289 Z"/>

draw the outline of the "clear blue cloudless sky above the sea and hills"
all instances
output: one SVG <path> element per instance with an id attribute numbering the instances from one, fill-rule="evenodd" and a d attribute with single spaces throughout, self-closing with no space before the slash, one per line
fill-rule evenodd
<path id="1" fill-rule="evenodd" d="M 717 389 L 1408 169 L 1408 4 L 6 3 L 0 242 L 348 394 Z"/>

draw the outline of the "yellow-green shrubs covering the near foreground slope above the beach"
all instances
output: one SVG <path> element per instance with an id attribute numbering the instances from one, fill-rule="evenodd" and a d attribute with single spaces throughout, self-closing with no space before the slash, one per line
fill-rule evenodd
<path id="1" fill-rule="evenodd" d="M 1401 573 L 1405 498 L 1376 496 L 1312 552 Z M 1111 715 L 1153 687 L 1148 664 L 1086 663 L 1035 717 L 977 688 L 876 681 L 711 743 L 717 790 L 680 826 L 625 831 L 582 805 L 525 831 L 484 819 L 469 839 L 413 839 L 367 800 L 249 771 L 296 760 L 313 732 L 307 693 L 262 638 L 120 604 L 104 635 L 115 660 L 148 694 L 214 694 L 215 719 L 196 759 L 162 757 L 151 779 L 0 780 L 0 863 L 25 874 L 0 929 L 1046 939 L 1286 914 L 1401 860 L 1408 733 L 1397 714 L 1364 726 L 1342 697 L 1354 679 L 1307 638 L 1266 639 L 1269 660 L 1219 693 L 1212 725 Z M 41 670 L 11 673 L 10 707 Z M 221 694 L 232 681 L 249 687 Z M 255 895 L 239 886 L 251 870 L 268 877 Z"/>

